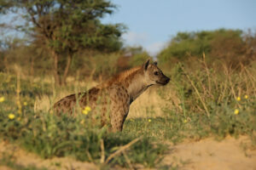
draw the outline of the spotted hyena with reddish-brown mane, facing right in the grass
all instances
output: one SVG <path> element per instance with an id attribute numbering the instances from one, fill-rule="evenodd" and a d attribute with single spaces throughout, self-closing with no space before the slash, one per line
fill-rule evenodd
<path id="1" fill-rule="evenodd" d="M 143 65 L 121 72 L 85 93 L 68 95 L 55 103 L 54 111 L 73 114 L 77 104 L 81 108 L 90 106 L 91 114 L 100 113 L 102 126 L 109 124 L 113 132 L 122 131 L 131 103 L 148 87 L 166 85 L 169 81 L 157 63 L 149 64 L 148 59 Z"/>

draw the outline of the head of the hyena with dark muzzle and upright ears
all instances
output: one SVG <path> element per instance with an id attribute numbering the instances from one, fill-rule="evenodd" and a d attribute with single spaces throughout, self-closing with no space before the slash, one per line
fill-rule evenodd
<path id="1" fill-rule="evenodd" d="M 166 85 L 170 78 L 166 77 L 164 73 L 157 67 L 157 62 L 154 64 L 149 64 L 149 59 L 143 64 L 144 70 L 144 78 L 145 82 L 147 82 L 148 86 L 159 84 L 159 85 Z"/>

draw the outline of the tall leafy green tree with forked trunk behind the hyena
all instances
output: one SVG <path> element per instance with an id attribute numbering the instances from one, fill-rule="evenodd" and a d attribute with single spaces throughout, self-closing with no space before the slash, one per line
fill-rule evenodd
<path id="1" fill-rule="evenodd" d="M 22 14 L 26 23 L 17 28 L 49 50 L 56 85 L 66 83 L 71 61 L 79 49 L 109 52 L 121 47 L 120 36 L 125 27 L 101 22 L 115 8 L 107 0 L 0 0 L 0 14 Z M 64 71 L 60 69 L 61 57 L 66 60 Z"/>

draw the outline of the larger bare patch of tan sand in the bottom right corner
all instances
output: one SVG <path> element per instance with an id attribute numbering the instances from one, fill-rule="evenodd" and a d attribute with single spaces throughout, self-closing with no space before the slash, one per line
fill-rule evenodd
<path id="1" fill-rule="evenodd" d="M 250 139 L 228 137 L 222 141 L 203 139 L 170 146 L 165 157 L 167 167 L 178 169 L 207 170 L 255 170 L 256 150 L 252 150 Z"/>

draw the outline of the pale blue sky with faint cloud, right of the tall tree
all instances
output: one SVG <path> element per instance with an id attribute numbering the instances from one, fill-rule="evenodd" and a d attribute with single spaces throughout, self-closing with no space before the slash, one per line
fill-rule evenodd
<path id="1" fill-rule="evenodd" d="M 104 23 L 124 23 L 125 44 L 157 54 L 178 31 L 256 30 L 256 0 L 112 0 Z"/>

